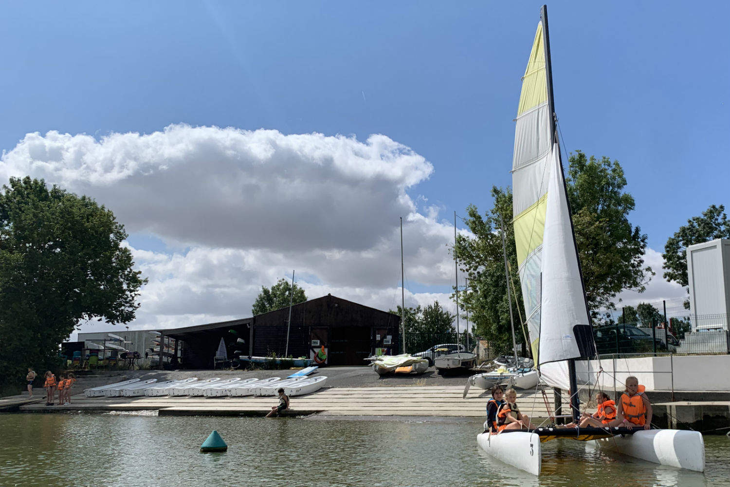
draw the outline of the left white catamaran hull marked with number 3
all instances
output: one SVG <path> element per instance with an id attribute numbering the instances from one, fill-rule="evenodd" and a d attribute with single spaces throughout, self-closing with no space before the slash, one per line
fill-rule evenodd
<path id="1" fill-rule="evenodd" d="M 529 432 L 507 434 L 477 434 L 479 447 L 488 455 L 505 464 L 517 467 L 533 475 L 540 475 L 542 456 L 540 438 Z"/>

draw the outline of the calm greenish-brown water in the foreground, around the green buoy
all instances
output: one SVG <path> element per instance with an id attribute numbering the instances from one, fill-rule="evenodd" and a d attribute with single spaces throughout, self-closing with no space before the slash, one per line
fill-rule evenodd
<path id="1" fill-rule="evenodd" d="M 0 415 L 0 486 L 730 485 L 730 438 L 705 437 L 704 474 L 543 445 L 542 475 L 480 452 L 480 421 L 305 421 L 142 414 Z M 218 429 L 227 453 L 199 453 Z"/>

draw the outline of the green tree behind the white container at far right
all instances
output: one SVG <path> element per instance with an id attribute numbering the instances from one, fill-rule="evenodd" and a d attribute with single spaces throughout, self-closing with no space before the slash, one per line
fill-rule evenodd
<path id="1" fill-rule="evenodd" d="M 712 204 L 702 212 L 702 216 L 690 218 L 673 237 L 667 239 L 664 253 L 661 254 L 664 258 L 664 279 L 688 287 L 687 248 L 690 245 L 727 238 L 730 238 L 730 221 L 725 214 L 725 207 L 722 204 Z M 688 302 L 685 306 L 688 307 Z"/>

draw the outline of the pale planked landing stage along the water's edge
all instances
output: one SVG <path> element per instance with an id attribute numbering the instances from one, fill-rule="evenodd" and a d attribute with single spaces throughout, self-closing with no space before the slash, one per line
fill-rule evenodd
<path id="1" fill-rule="evenodd" d="M 462 399 L 462 386 L 401 386 L 322 388 L 307 396 L 291 398 L 291 414 L 363 415 L 363 416 L 466 416 L 484 417 L 488 391 L 472 388 Z M 548 392 L 553 404 L 553 392 Z M 158 410 L 161 415 L 262 415 L 277 404 L 267 397 L 73 397 L 69 406 L 28 404 L 22 411 L 53 410 L 109 411 Z M 520 391 L 518 404 L 533 418 L 545 417 L 542 394 Z"/>

